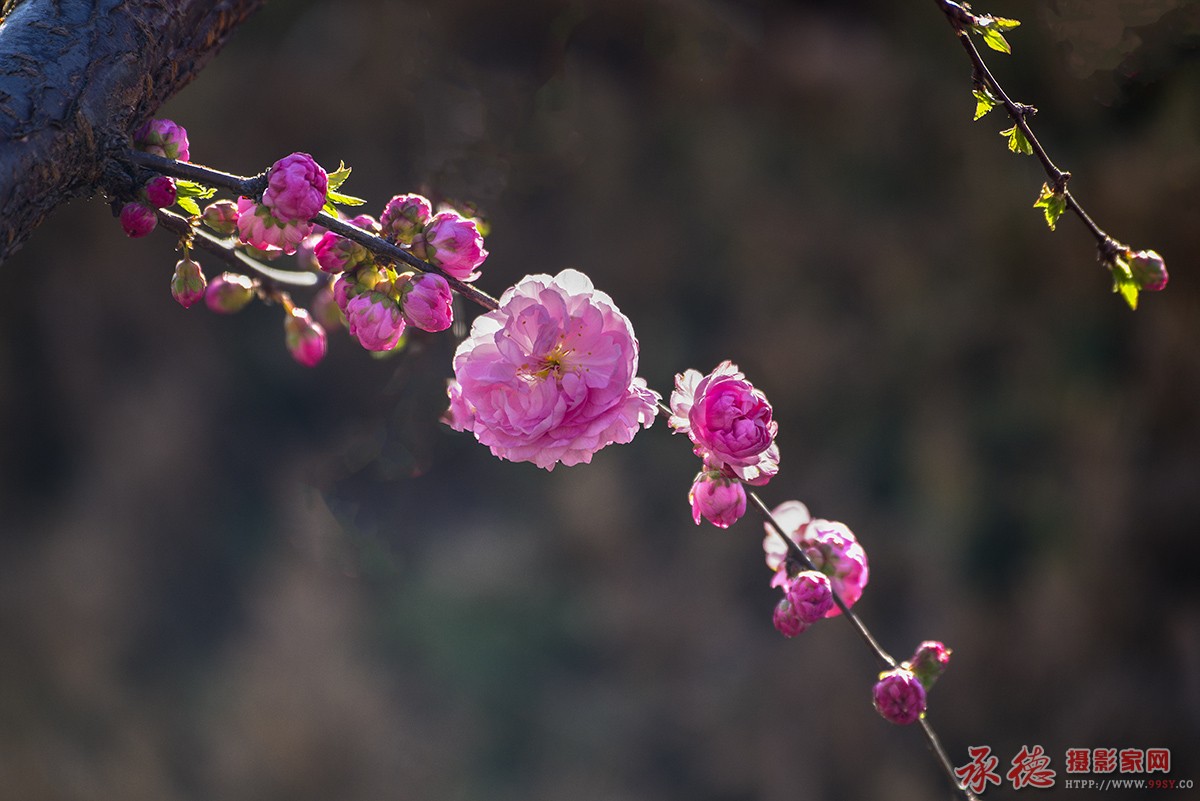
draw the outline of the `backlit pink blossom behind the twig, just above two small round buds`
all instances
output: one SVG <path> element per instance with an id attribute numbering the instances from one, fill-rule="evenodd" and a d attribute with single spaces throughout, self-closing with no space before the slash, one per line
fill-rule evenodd
<path id="1" fill-rule="evenodd" d="M 814 567 L 829 577 L 834 592 L 846 603 L 854 606 L 863 597 L 863 589 L 870 578 L 866 565 L 866 552 L 851 531 L 841 523 L 811 519 L 809 510 L 800 501 L 785 501 L 772 510 L 772 517 L 787 532 L 788 538 L 797 543 L 812 562 Z M 787 547 L 769 524 L 763 526 L 767 536 L 762 541 L 767 555 L 767 566 L 775 572 L 773 586 L 786 586 Z M 834 606 L 827 618 L 840 615 Z"/>

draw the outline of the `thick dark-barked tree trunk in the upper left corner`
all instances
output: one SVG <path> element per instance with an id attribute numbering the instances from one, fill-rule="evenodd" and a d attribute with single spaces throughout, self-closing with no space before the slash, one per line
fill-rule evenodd
<path id="1" fill-rule="evenodd" d="M 0 23 L 0 261 L 265 0 L 18 0 Z"/>

